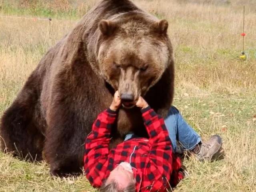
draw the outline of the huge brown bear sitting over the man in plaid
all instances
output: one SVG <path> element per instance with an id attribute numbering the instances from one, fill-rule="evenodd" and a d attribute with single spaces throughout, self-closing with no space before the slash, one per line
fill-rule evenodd
<path id="1" fill-rule="evenodd" d="M 84 142 L 98 114 L 119 91 L 122 106 L 112 146 L 133 130 L 148 136 L 143 96 L 166 116 L 174 92 L 168 22 L 130 0 L 102 0 L 44 55 L 1 118 L 1 148 L 50 164 L 54 176 L 81 174 Z"/>

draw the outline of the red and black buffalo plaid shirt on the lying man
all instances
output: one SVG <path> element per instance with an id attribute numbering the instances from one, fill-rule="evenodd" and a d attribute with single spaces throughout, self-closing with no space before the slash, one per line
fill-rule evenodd
<path id="1" fill-rule="evenodd" d="M 99 188 L 110 171 L 124 161 L 133 168 L 137 191 L 166 191 L 183 178 L 179 172 L 181 161 L 172 152 L 163 118 L 150 106 L 141 112 L 149 139 L 132 138 L 111 150 L 108 148 L 110 130 L 116 112 L 108 108 L 98 115 L 86 138 L 84 154 L 85 174 L 93 187 Z"/>

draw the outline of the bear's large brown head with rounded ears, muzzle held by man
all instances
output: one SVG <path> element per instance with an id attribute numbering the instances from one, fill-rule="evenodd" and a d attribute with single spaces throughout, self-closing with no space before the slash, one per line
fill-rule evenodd
<path id="1" fill-rule="evenodd" d="M 119 91 L 122 105 L 132 108 L 132 103 L 145 96 L 170 64 L 168 22 L 137 13 L 101 20 L 98 28 L 100 73 Z"/>

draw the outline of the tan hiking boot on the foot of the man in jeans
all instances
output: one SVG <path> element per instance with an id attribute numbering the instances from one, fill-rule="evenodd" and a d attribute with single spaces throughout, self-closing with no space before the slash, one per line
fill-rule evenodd
<path id="1" fill-rule="evenodd" d="M 198 160 L 212 160 L 212 157 L 220 152 L 222 138 L 219 135 L 212 136 L 208 141 L 202 141 L 193 151 L 197 154 Z"/>

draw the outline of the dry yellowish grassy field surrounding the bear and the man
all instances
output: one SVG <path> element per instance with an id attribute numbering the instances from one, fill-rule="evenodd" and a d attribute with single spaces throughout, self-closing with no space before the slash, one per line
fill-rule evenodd
<path id="1" fill-rule="evenodd" d="M 48 48 L 96 2 L 2 1 L 0 14 L 0 115 L 11 104 Z M 18 2 L 18 3 L 17 3 Z M 28 3 L 30 2 L 30 4 Z M 177 192 L 256 190 L 256 2 L 254 0 L 135 0 L 169 22 L 176 58 L 174 105 L 202 136 L 223 138 L 224 158 L 185 159 L 190 176 Z M 199 2 L 199 3 L 198 3 Z M 1 2 L 0 2 L 1 4 Z M 245 51 L 242 15 L 245 4 Z M 35 20 L 8 18 L 24 16 Z M 0 153 L 0 191 L 94 191 L 80 176 L 58 180 L 48 165 L 31 164 Z"/>

